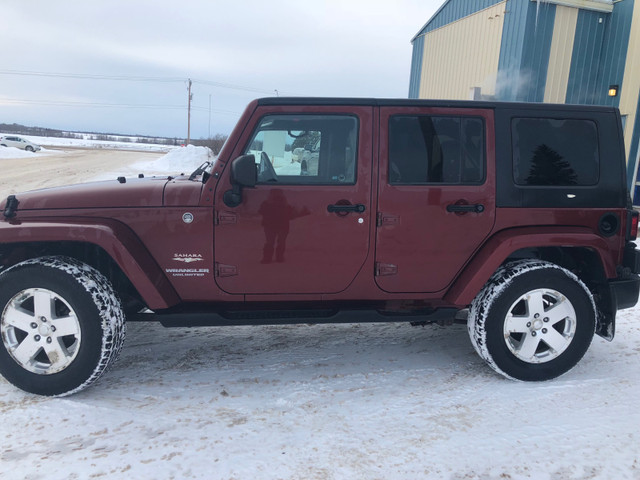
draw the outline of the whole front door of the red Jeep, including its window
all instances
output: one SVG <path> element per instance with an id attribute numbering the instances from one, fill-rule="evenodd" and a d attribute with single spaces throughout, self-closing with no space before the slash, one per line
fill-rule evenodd
<path id="1" fill-rule="evenodd" d="M 258 183 L 227 206 L 215 193 L 216 282 L 232 294 L 346 289 L 365 263 L 373 157 L 371 106 L 258 106 L 231 158 L 255 155 Z"/>

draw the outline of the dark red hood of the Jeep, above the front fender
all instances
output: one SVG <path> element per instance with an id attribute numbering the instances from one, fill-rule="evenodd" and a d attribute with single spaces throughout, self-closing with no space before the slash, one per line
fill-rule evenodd
<path id="1" fill-rule="evenodd" d="M 20 210 L 161 207 L 167 177 L 127 178 L 46 188 L 15 195 Z M 4 206 L 5 201 L 2 202 Z"/>

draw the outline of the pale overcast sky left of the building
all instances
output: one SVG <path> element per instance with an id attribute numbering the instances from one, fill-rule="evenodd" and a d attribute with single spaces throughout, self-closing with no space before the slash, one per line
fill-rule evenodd
<path id="1" fill-rule="evenodd" d="M 406 98 L 411 38 L 443 2 L 2 0 L 0 123 L 186 137 L 187 78 L 194 138 L 276 90 Z"/>

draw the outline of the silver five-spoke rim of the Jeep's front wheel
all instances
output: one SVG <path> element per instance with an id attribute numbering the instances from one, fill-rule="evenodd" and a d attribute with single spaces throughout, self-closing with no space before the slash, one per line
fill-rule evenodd
<path id="1" fill-rule="evenodd" d="M 71 306 L 44 288 L 14 295 L 0 317 L 0 333 L 13 360 L 39 375 L 67 368 L 81 342 L 80 323 Z"/>

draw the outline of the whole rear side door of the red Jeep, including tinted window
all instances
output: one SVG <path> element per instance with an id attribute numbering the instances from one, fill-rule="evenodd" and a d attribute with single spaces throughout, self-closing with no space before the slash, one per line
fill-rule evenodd
<path id="1" fill-rule="evenodd" d="M 494 114 L 382 107 L 376 283 L 445 289 L 493 228 Z"/>

